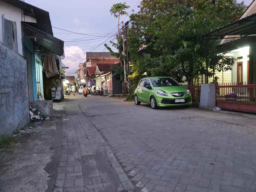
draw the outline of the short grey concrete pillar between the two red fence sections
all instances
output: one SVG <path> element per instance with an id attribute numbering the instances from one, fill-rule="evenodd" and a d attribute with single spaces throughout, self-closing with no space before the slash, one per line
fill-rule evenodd
<path id="1" fill-rule="evenodd" d="M 202 84 L 199 107 L 212 110 L 216 106 L 215 84 Z"/>

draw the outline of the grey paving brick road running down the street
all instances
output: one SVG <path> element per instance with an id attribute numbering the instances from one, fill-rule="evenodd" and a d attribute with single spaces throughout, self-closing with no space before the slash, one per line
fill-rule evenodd
<path id="1" fill-rule="evenodd" d="M 256 191 L 256 118 L 69 97 L 55 191 Z M 66 119 L 66 120 L 65 120 Z"/>

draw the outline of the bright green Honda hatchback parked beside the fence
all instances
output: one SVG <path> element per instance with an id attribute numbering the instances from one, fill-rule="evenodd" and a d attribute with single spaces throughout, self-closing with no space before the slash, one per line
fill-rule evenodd
<path id="1" fill-rule="evenodd" d="M 134 103 L 150 103 L 152 109 L 164 106 L 192 104 L 192 96 L 171 77 L 147 77 L 139 81 L 134 92 Z"/>

